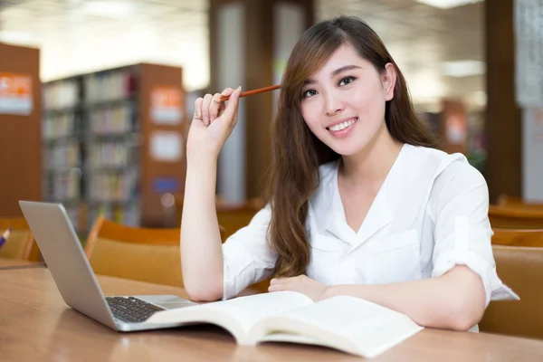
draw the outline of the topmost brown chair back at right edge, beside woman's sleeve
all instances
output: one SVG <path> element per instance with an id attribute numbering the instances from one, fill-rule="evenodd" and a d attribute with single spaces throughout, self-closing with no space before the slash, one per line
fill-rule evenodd
<path id="1" fill-rule="evenodd" d="M 543 209 L 521 205 L 490 205 L 489 219 L 492 228 L 500 229 L 543 229 Z"/>

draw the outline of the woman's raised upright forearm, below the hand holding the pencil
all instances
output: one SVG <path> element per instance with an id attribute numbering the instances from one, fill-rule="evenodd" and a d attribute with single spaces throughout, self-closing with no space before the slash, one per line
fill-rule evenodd
<path id="1" fill-rule="evenodd" d="M 215 207 L 215 157 L 187 155 L 181 220 L 181 265 L 192 300 L 223 296 L 223 249 Z"/>

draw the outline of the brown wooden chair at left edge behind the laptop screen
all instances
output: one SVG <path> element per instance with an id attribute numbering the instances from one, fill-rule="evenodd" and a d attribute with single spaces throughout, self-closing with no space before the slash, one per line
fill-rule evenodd
<path id="1" fill-rule="evenodd" d="M 10 227 L 12 232 L 0 248 L 0 258 L 40 262 L 42 254 L 24 217 L 0 218 L 0 233 Z"/>

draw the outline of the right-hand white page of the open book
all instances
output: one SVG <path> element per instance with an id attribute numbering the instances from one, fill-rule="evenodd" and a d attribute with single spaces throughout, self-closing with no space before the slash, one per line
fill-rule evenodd
<path id="1" fill-rule="evenodd" d="M 421 329 L 395 310 L 367 300 L 340 296 L 263 319 L 251 334 L 253 342 L 258 339 L 320 344 L 375 357 Z M 289 334 L 294 336 L 289 338 Z"/>

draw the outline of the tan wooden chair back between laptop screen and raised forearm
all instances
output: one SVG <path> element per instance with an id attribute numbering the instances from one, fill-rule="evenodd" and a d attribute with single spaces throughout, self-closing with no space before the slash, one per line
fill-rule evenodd
<path id="1" fill-rule="evenodd" d="M 179 228 L 130 227 L 100 216 L 85 253 L 97 274 L 182 287 L 179 241 Z"/>

